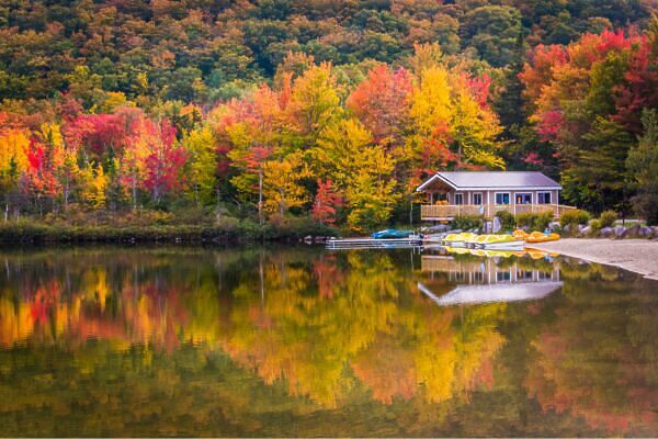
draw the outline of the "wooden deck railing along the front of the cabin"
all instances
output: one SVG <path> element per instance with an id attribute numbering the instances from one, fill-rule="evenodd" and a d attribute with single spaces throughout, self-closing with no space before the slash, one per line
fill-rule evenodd
<path id="1" fill-rule="evenodd" d="M 420 206 L 420 218 L 423 221 L 441 221 L 461 215 L 484 215 L 490 218 L 496 215 L 496 212 L 500 211 L 508 211 L 514 215 L 520 213 L 553 212 L 553 215 L 559 218 L 565 212 L 575 209 L 561 204 L 426 204 Z"/>

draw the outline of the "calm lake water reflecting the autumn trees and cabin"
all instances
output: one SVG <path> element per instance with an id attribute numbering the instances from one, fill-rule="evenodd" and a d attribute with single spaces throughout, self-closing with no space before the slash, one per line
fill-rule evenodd
<path id="1" fill-rule="evenodd" d="M 572 259 L 0 252 L 0 436 L 658 436 L 658 282 Z"/>

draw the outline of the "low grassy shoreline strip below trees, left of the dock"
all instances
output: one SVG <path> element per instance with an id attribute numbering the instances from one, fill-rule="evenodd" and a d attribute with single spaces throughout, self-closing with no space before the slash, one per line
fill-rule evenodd
<path id="1" fill-rule="evenodd" d="M 213 225 L 48 225 L 34 222 L 0 224 L 0 243 L 34 245 L 46 243 L 248 243 L 298 241 L 305 237 L 336 236 L 322 225 L 273 226 L 239 223 Z"/>

